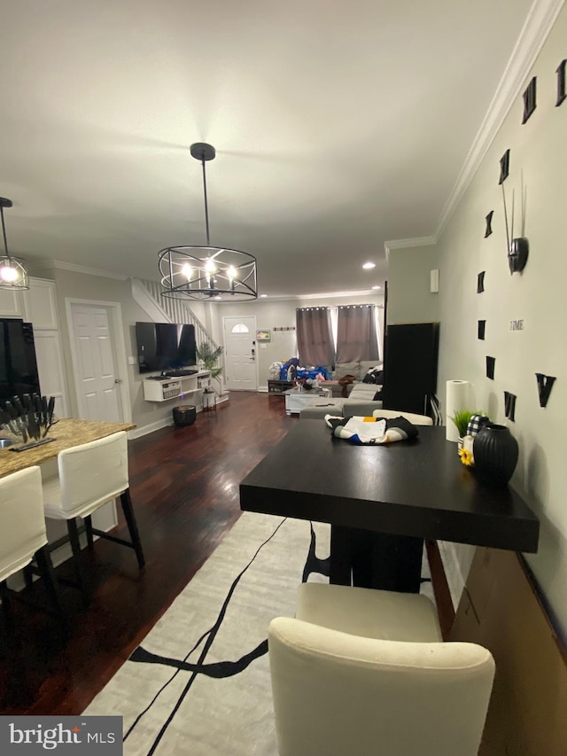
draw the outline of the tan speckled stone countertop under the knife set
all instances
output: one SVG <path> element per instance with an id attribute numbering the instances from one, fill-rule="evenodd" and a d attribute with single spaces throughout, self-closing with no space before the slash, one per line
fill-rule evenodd
<path id="1" fill-rule="evenodd" d="M 66 448 L 78 446 L 97 439 L 104 439 L 119 431 L 131 431 L 136 428 L 132 423 L 105 423 L 102 420 L 58 420 L 51 426 L 47 437 L 53 439 L 25 451 L 11 451 L 12 447 L 0 449 L 0 478 L 18 470 L 24 470 L 34 464 L 43 464 L 58 456 Z M 5 438 L 9 434 L 5 434 Z"/>

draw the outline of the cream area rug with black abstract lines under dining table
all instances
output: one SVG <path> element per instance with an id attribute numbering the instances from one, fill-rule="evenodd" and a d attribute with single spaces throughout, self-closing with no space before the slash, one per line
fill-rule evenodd
<path id="1" fill-rule="evenodd" d="M 245 512 L 84 713 L 120 714 L 127 756 L 276 756 L 268 625 L 329 549 L 330 526 Z"/>

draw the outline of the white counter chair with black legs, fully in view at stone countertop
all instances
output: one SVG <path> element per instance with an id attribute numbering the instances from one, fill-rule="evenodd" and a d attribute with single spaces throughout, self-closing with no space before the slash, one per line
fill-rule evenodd
<path id="1" fill-rule="evenodd" d="M 128 525 L 129 542 L 92 525 L 93 512 L 118 496 Z M 43 506 L 45 517 L 66 520 L 83 600 L 88 596 L 88 581 L 82 564 L 77 518 L 84 519 L 89 549 L 93 548 L 93 536 L 98 535 L 134 549 L 138 566 L 144 566 L 144 552 L 129 491 L 128 440 L 124 431 L 59 452 L 58 477 L 43 481 Z"/>

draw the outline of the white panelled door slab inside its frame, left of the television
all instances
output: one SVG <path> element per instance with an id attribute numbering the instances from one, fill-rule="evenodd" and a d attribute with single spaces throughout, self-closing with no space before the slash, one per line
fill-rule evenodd
<path id="1" fill-rule="evenodd" d="M 108 308 L 72 303 L 71 327 L 80 416 L 121 422 L 120 378 Z"/>

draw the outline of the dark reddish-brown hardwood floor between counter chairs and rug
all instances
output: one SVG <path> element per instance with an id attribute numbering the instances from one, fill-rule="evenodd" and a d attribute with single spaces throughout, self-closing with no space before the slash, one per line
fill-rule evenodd
<path id="1" fill-rule="evenodd" d="M 138 570 L 131 549 L 97 542 L 87 555 L 89 608 L 64 588 L 72 613 L 66 639 L 52 618 L 12 602 L 18 634 L 14 644 L 4 633 L 0 646 L 2 713 L 82 713 L 236 522 L 240 480 L 297 422 L 281 396 L 233 392 L 194 425 L 130 441 L 145 568 Z M 121 520 L 119 528 L 123 535 Z M 41 588 L 35 594 L 39 602 Z"/>

